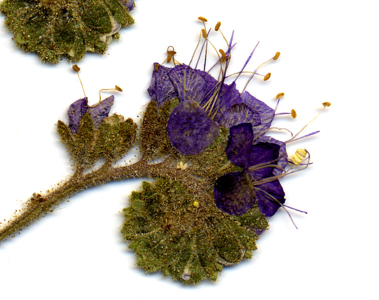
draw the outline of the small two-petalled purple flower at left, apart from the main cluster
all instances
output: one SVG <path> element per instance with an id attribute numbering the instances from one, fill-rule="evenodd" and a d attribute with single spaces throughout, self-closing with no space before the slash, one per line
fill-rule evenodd
<path id="1" fill-rule="evenodd" d="M 108 116 L 114 99 L 115 96 L 111 95 L 104 100 L 101 100 L 99 104 L 93 107 L 88 106 L 87 97 L 81 98 L 72 103 L 67 110 L 67 114 L 69 115 L 70 121 L 69 127 L 73 134 L 76 134 L 78 131 L 79 122 L 86 113 L 91 115 L 95 128 L 99 127 L 101 121 Z"/>

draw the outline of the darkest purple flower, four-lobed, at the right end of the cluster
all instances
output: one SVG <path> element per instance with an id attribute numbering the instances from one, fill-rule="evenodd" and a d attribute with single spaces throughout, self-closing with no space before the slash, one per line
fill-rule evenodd
<path id="1" fill-rule="evenodd" d="M 285 201 L 283 188 L 275 178 L 287 164 L 282 159 L 286 157 L 285 143 L 269 137 L 254 140 L 252 124 L 242 123 L 230 128 L 225 153 L 242 171 L 216 180 L 216 206 L 228 214 L 240 215 L 257 203 L 265 216 L 272 216 Z"/>

